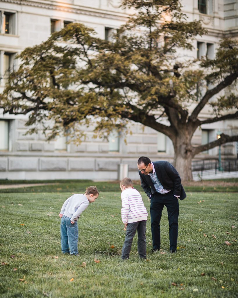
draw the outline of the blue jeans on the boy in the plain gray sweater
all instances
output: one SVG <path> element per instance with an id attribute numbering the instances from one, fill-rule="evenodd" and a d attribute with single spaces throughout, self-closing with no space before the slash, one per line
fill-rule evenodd
<path id="1" fill-rule="evenodd" d="M 60 223 L 61 249 L 64 254 L 78 254 L 78 221 L 71 224 L 70 218 L 63 215 Z"/>

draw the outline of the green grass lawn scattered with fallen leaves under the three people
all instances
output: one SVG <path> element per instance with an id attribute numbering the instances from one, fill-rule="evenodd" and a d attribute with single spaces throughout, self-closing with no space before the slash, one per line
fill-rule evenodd
<path id="1" fill-rule="evenodd" d="M 165 254 L 149 253 L 148 217 L 148 259 L 143 261 L 136 237 L 130 259 L 120 259 L 125 232 L 119 191 L 101 191 L 82 213 L 80 256 L 62 255 L 58 214 L 70 195 L 0 194 L 0 260 L 7 263 L 0 266 L 0 297 L 237 297 L 237 193 L 188 192 L 179 201 L 177 254 L 168 254 L 166 208 L 161 221 Z"/>

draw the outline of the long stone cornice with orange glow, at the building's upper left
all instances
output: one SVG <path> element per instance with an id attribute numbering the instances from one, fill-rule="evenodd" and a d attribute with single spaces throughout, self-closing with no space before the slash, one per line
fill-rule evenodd
<path id="1" fill-rule="evenodd" d="M 60 10 L 65 11 L 68 13 L 77 13 L 81 15 L 90 15 L 98 18 L 107 18 L 117 21 L 127 21 L 126 17 L 118 16 L 112 13 L 100 13 L 90 10 L 83 10 L 80 8 L 71 8 L 63 5 L 54 5 L 54 4 L 47 4 L 47 3 L 41 3 L 41 2 L 34 2 L 34 1 L 28 1 L 28 0 L 1 0 L 1 2 L 7 2 L 12 4 L 18 4 L 18 5 L 26 5 L 26 6 L 32 6 L 32 7 L 38 7 L 38 8 L 44 8 L 44 9 L 51 9 L 51 10 Z"/>

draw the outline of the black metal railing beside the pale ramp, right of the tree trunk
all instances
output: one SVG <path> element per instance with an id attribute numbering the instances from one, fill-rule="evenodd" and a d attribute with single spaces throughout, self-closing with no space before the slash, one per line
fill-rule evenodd
<path id="1" fill-rule="evenodd" d="M 217 173 L 218 170 L 223 172 L 238 171 L 238 160 L 224 159 L 220 164 L 218 159 L 202 159 L 192 162 L 192 171 L 203 172 L 206 170 L 215 170 L 215 173 Z"/>

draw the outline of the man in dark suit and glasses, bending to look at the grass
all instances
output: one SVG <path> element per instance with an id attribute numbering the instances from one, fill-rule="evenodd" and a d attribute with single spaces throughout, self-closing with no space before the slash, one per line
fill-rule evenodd
<path id="1" fill-rule="evenodd" d="M 186 198 L 179 173 L 165 161 L 151 162 L 141 156 L 137 162 L 141 187 L 151 200 L 152 252 L 160 249 L 160 219 L 164 206 L 169 220 L 170 253 L 176 252 L 178 240 L 179 200 Z"/>

